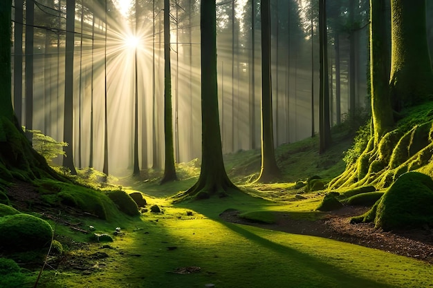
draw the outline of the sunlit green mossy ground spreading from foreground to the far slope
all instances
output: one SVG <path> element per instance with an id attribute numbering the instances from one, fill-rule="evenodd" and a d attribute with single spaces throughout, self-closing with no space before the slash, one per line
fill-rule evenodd
<path id="1" fill-rule="evenodd" d="M 340 138 L 339 138 L 340 137 Z M 431 265 L 385 251 L 313 236 L 296 235 L 224 222 L 219 213 L 237 209 L 248 218 L 272 220 L 277 212 L 293 219 L 317 220 L 326 215 L 315 209 L 322 191 L 295 189 L 297 180 L 319 175 L 331 178 L 344 170 L 342 151 L 351 142 L 343 133 L 329 153 L 317 154 L 317 138 L 287 144 L 277 149 L 284 182 L 252 184 L 259 171 L 259 151 L 225 155 L 226 169 L 242 192 L 230 191 L 226 198 L 172 204 L 169 197 L 196 182 L 196 161 L 178 164 L 181 180 L 161 186 L 160 171 L 146 171 L 140 178 L 119 179 L 116 185 L 131 193 L 141 191 L 147 209 L 158 205 L 162 213 L 129 217 L 110 213 L 108 221 L 71 218 L 82 229 L 122 234 L 101 249 L 91 236 L 57 225 L 57 239 L 70 246 L 86 242 L 81 249 L 66 251 L 85 260 L 89 271 L 51 269 L 42 274 L 38 287 L 433 287 Z M 341 141 L 340 141 L 341 140 Z M 257 166 L 258 163 L 258 166 Z M 306 163 L 308 163 L 306 165 Z M 98 185 L 95 185 L 98 186 Z M 348 195 L 346 195 L 348 197 Z M 54 225 L 53 220 L 50 224 Z M 62 237 L 59 237 L 61 235 Z M 67 247 L 66 247 L 67 250 Z M 97 253 L 107 258 L 94 258 Z M 181 267 L 200 267 L 199 273 L 174 273 Z M 35 273 L 27 273 L 28 279 Z M 31 287 L 29 285 L 29 287 Z"/>

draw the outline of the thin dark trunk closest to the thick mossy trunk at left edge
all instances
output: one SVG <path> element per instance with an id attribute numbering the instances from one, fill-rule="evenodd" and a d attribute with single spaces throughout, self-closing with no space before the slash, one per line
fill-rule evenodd
<path id="1" fill-rule="evenodd" d="M 23 98 L 23 18 L 23 0 L 15 0 L 14 108 L 20 125 Z M 1 35 L 5 34 L 2 33 Z M 7 78 L 2 77 L 1 79 Z"/>

